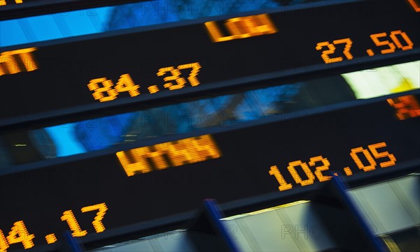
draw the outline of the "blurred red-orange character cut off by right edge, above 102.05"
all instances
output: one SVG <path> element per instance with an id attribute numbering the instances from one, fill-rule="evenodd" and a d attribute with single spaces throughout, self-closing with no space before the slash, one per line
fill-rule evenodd
<path id="1" fill-rule="evenodd" d="M 388 98 L 389 105 L 395 108 L 395 116 L 400 120 L 420 117 L 420 105 L 413 95 Z"/>

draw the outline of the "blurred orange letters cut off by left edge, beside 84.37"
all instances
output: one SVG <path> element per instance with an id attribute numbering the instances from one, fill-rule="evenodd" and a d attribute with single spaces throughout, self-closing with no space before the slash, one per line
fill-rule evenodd
<path id="1" fill-rule="evenodd" d="M 0 76 L 6 74 L 16 74 L 23 71 L 30 72 L 38 69 L 36 60 L 32 52 L 37 50 L 36 47 L 30 47 L 20 50 L 13 50 L 7 52 L 1 52 L 0 54 Z M 18 61 L 15 57 L 20 57 L 24 68 L 19 66 Z"/>

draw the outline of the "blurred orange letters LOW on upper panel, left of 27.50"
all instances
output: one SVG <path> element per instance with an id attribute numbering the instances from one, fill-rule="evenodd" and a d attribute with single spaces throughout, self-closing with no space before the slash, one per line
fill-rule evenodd
<path id="1" fill-rule="evenodd" d="M 266 34 L 275 34 L 277 32 L 277 29 L 270 20 L 268 14 L 234 17 L 226 20 L 225 26 L 230 34 L 232 34 L 231 36 L 223 36 L 221 30 L 214 21 L 205 22 L 204 25 L 206 26 L 210 38 L 214 43 Z"/>

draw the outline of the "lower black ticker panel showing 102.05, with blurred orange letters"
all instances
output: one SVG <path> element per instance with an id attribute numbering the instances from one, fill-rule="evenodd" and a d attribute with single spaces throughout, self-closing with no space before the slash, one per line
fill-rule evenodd
<path id="1" fill-rule="evenodd" d="M 418 165 L 419 100 L 419 91 L 411 91 L 3 175 L 2 249 L 55 244 L 69 229 L 78 237 L 105 235 L 194 210 L 204 198 L 286 196 L 335 173 L 363 181 Z"/>

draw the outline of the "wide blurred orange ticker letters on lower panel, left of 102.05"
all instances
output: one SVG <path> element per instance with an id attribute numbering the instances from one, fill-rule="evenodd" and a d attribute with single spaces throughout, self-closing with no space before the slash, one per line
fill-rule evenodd
<path id="1" fill-rule="evenodd" d="M 152 172 L 155 169 L 162 170 L 170 166 L 181 166 L 219 158 L 221 151 L 211 135 L 201 135 L 129 151 L 118 151 L 116 155 L 127 176 L 131 177 L 138 173 Z M 148 159 L 151 161 L 149 162 Z"/>

